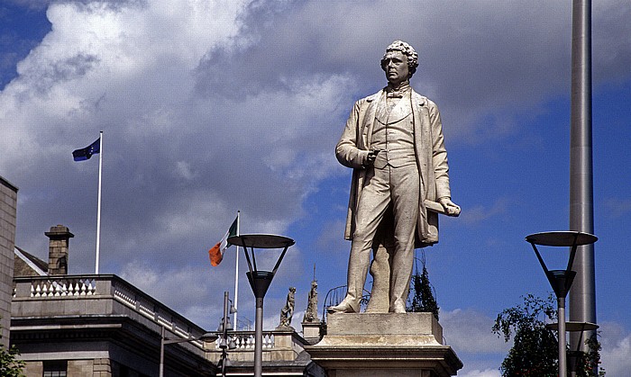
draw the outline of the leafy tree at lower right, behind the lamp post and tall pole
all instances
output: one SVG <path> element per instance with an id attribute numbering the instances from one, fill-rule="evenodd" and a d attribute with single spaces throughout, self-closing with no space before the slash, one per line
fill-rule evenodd
<path id="1" fill-rule="evenodd" d="M 559 343 L 556 333 L 545 328 L 546 319 L 556 321 L 553 295 L 543 300 L 528 294 L 523 299 L 523 304 L 499 313 L 492 328 L 493 333 L 503 336 L 506 342 L 513 337 L 513 347 L 499 369 L 505 377 L 556 376 L 559 371 Z M 600 363 L 598 337 L 591 337 L 585 343 L 590 351 L 581 355 L 577 376 L 605 375 L 603 370 L 596 373 Z"/>

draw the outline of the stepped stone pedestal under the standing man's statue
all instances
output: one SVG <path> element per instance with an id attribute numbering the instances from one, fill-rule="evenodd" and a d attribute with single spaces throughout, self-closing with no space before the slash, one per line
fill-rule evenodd
<path id="1" fill-rule="evenodd" d="M 330 314 L 325 337 L 305 349 L 329 377 L 444 377 L 462 368 L 432 313 Z"/>

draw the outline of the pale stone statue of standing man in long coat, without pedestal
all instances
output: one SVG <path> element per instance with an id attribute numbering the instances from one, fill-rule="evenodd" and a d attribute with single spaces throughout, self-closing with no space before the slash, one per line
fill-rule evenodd
<path id="1" fill-rule="evenodd" d="M 355 103 L 335 148 L 338 161 L 353 169 L 345 231 L 352 247 L 348 292 L 339 305 L 328 309 L 331 313 L 359 312 L 370 249 L 380 228 L 391 229 L 380 237 L 394 243 L 388 311 L 405 312 L 414 249 L 438 242 L 438 215 L 427 211 L 425 201 L 439 202 L 445 214 L 460 213 L 451 200 L 438 108 L 409 85 L 417 60 L 406 42 L 389 45 L 381 59 L 388 86 Z M 391 224 L 381 224 L 384 218 Z"/>

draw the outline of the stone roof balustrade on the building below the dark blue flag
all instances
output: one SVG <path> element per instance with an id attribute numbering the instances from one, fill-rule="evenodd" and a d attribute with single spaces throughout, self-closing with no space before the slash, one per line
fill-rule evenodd
<path id="1" fill-rule="evenodd" d="M 178 337 L 201 337 L 205 331 L 193 322 L 170 310 L 160 301 L 142 292 L 132 284 L 113 274 L 99 275 L 59 275 L 29 276 L 14 278 L 14 301 L 41 300 L 114 300 L 126 308 L 150 319 L 156 325 L 164 327 Z M 102 308 L 102 307 L 98 307 Z M 101 309 L 102 310 L 102 309 Z M 112 309 L 110 313 L 79 313 L 82 315 L 125 314 Z M 56 313 L 42 313 L 55 315 Z M 201 341 L 193 341 L 202 347 Z"/>

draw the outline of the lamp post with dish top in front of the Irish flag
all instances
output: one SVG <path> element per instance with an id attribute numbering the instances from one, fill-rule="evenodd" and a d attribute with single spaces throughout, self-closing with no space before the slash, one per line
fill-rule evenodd
<path id="1" fill-rule="evenodd" d="M 276 271 L 279 269 L 280 262 L 283 260 L 287 249 L 295 244 L 291 238 L 276 236 L 270 234 L 243 234 L 228 238 L 228 242 L 232 245 L 243 247 L 245 260 L 248 262 L 249 272 L 248 281 L 254 297 L 256 298 L 256 322 L 254 326 L 254 376 L 261 377 L 263 372 L 263 299 L 265 293 L 268 292 L 272 279 Z M 248 247 L 250 249 L 248 250 Z M 256 265 L 256 256 L 254 249 L 270 249 L 282 248 L 279 259 L 271 271 L 259 270 Z"/>

